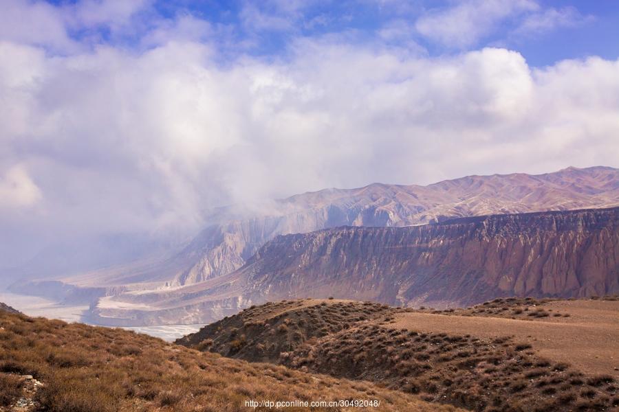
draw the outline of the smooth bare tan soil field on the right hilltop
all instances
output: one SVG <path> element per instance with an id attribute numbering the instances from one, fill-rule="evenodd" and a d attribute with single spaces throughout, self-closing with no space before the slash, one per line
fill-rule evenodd
<path id="1" fill-rule="evenodd" d="M 585 374 L 611 374 L 619 378 L 619 301 L 550 301 L 541 307 L 569 317 L 525 320 L 404 312 L 395 314 L 395 323 L 389 325 L 480 338 L 513 335 L 514 341 L 530 343 L 544 358 L 569 363 Z"/>

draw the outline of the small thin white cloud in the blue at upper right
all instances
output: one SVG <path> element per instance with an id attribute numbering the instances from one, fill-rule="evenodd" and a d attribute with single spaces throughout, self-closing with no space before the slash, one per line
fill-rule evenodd
<path id="1" fill-rule="evenodd" d="M 415 22 L 417 32 L 448 47 L 475 45 L 497 23 L 538 10 L 533 0 L 465 0 L 442 10 L 430 10 Z"/>

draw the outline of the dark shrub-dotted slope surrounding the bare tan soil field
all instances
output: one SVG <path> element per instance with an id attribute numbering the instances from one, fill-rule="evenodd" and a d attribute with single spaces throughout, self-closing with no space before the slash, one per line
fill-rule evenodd
<path id="1" fill-rule="evenodd" d="M 484 307 L 502 313 L 510 312 L 509 304 L 528 308 L 522 310 L 523 317 L 529 311 L 536 318 L 545 317 L 538 314 L 543 302 L 533 299 L 501 299 Z M 600 405 L 609 409 L 617 396 L 612 376 L 588 378 L 566 363 L 540 358 L 528 341 L 511 336 L 479 339 L 395 328 L 391 319 L 408 310 L 377 304 L 317 301 L 308 305 L 305 301 L 303 306 L 285 305 L 286 310 L 277 304 L 252 308 L 183 342 L 208 341 L 205 349 L 227 356 L 371 380 L 424 400 L 476 411 L 567 411 Z M 457 312 L 464 310 L 448 313 Z M 285 325 L 285 333 L 279 332 L 280 325 Z M 293 339 L 295 333 L 301 339 Z M 230 343 L 239 334 L 247 341 L 235 351 Z"/>

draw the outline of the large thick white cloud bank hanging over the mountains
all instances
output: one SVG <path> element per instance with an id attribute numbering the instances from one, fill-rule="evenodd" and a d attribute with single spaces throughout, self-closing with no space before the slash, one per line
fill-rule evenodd
<path id="1" fill-rule="evenodd" d="M 0 197 L 30 213 L 3 213 L 3 236 L 189 233 L 210 207 L 323 187 L 619 165 L 616 60 L 325 36 L 222 65 L 211 28 L 177 16 L 146 48 L 68 54 L 4 38 Z"/>

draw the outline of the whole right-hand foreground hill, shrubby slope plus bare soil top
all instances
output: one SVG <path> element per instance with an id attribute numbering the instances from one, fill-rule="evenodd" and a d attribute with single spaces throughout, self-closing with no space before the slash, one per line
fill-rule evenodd
<path id="1" fill-rule="evenodd" d="M 619 301 L 609 299 L 448 311 L 303 299 L 243 310 L 178 342 L 475 411 L 603 411 L 619 407 Z"/>

